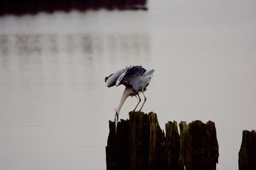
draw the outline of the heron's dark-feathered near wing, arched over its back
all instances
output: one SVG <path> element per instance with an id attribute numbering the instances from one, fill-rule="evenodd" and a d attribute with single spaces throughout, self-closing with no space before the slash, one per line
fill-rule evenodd
<path id="1" fill-rule="evenodd" d="M 133 85 L 133 81 L 134 79 L 136 79 L 136 77 L 141 76 L 142 74 L 144 74 L 146 72 L 145 68 L 142 68 L 141 66 L 134 66 L 134 67 L 130 67 L 128 68 L 124 73 L 122 73 L 117 82 L 116 85 Z"/>

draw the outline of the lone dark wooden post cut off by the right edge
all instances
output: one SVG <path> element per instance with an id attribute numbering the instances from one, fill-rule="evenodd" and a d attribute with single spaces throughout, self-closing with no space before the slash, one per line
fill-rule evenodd
<path id="1" fill-rule="evenodd" d="M 243 130 L 238 159 L 239 170 L 256 170 L 256 132 Z"/>

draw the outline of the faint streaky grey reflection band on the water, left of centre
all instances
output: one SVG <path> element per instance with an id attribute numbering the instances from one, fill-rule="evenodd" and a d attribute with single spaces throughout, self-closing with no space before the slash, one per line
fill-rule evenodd
<path id="1" fill-rule="evenodd" d="M 109 50 L 108 50 L 109 49 Z M 0 35 L 0 54 L 16 55 L 127 55 L 149 54 L 149 37 L 147 34 L 16 34 Z"/>

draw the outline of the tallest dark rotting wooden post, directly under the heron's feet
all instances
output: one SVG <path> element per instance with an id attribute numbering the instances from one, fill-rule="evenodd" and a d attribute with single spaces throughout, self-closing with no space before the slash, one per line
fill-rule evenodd
<path id="1" fill-rule="evenodd" d="M 160 170 L 165 161 L 165 140 L 157 114 L 129 113 L 131 170 Z M 162 150 L 162 152 L 161 152 Z"/>

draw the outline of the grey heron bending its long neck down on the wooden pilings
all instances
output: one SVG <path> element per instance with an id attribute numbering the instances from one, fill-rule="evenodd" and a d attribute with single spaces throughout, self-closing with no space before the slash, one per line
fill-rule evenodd
<path id="1" fill-rule="evenodd" d="M 139 93 L 141 92 L 144 96 L 144 102 L 141 105 L 139 111 L 141 111 L 144 103 L 146 102 L 147 98 L 144 94 L 146 87 L 149 85 L 149 82 L 153 76 L 153 72 L 155 70 L 152 69 L 147 71 L 142 66 L 130 66 L 123 69 L 118 70 L 117 72 L 110 74 L 108 77 L 105 78 L 105 83 L 107 87 L 112 87 L 114 85 L 125 85 L 125 90 L 121 97 L 120 103 L 118 105 L 118 109 L 115 115 L 116 127 L 118 122 L 118 116 L 121 110 L 123 103 L 125 102 L 126 98 L 129 96 L 138 96 L 138 103 L 135 106 L 134 110 L 138 107 L 138 104 L 141 102 Z M 117 118 L 117 119 L 116 119 Z"/>

